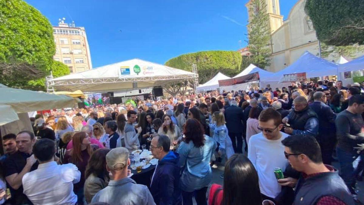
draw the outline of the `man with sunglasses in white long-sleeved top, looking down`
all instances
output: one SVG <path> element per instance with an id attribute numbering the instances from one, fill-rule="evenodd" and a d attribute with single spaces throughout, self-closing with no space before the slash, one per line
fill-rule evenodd
<path id="1" fill-rule="evenodd" d="M 274 201 L 281 192 L 281 185 L 288 185 L 285 179 L 278 183 L 274 175 L 275 168 L 285 170 L 288 160 L 284 156 L 284 146 L 281 141 L 288 135 L 280 132 L 282 129 L 281 114 L 273 108 L 263 110 L 259 115 L 259 127 L 262 132 L 249 139 L 248 158 L 257 170 L 259 187 L 263 199 Z"/>

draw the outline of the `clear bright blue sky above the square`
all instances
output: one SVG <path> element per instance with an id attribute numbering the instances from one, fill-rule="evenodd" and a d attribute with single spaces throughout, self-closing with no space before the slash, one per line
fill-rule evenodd
<path id="1" fill-rule="evenodd" d="M 92 66 L 132 58 L 164 64 L 185 53 L 246 46 L 248 0 L 26 0 L 52 25 L 85 27 Z M 280 0 L 287 18 L 297 0 Z"/>

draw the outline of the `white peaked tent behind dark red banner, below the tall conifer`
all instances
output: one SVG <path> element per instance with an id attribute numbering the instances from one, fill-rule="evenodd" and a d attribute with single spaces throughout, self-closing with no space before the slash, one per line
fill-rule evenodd
<path id="1" fill-rule="evenodd" d="M 248 82 L 248 83 L 243 83 L 243 84 L 236 84 L 236 85 L 229 85 L 229 86 L 221 86 L 220 87 L 220 92 L 222 92 L 222 90 L 246 90 L 248 89 L 248 87 L 250 87 L 250 85 L 252 85 L 253 83 L 260 83 L 260 86 L 266 86 L 266 79 L 272 75 L 272 72 L 263 70 L 253 64 L 250 64 L 248 67 L 246 67 L 243 71 L 241 71 L 241 73 L 237 74 L 236 76 L 234 76 L 233 78 L 237 78 L 237 77 L 241 77 L 241 76 L 246 76 L 252 73 L 256 73 L 258 72 L 259 74 L 259 81 L 252 81 L 252 82 Z M 278 82 L 278 81 L 277 81 Z"/>

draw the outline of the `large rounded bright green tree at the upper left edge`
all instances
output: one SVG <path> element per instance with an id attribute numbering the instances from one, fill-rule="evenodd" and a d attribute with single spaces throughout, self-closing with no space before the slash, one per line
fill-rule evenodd
<path id="1" fill-rule="evenodd" d="M 55 44 L 48 19 L 23 0 L 0 0 L 0 83 L 32 88 L 47 76 Z"/>

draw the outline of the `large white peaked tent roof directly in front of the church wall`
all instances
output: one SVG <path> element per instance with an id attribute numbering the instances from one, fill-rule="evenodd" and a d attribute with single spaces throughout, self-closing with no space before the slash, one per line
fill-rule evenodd
<path id="1" fill-rule="evenodd" d="M 306 73 L 307 78 L 337 75 L 337 64 L 319 58 L 306 51 L 296 62 L 267 78 L 267 81 L 279 81 L 284 74 Z"/>

